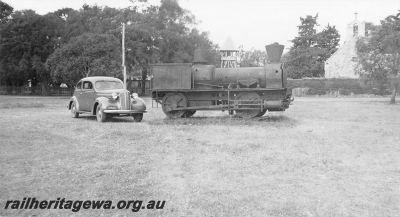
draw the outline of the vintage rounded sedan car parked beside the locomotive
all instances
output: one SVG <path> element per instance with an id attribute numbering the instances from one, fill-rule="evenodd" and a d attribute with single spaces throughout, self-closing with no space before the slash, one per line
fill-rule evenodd
<path id="1" fill-rule="evenodd" d="M 146 111 L 144 100 L 130 94 L 120 79 L 114 77 L 85 77 L 76 84 L 67 106 L 73 118 L 79 113 L 94 114 L 104 122 L 108 116 L 133 116 L 140 122 Z"/>

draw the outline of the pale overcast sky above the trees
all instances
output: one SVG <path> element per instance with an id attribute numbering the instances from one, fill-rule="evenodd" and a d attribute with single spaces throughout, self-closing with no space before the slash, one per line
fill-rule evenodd
<path id="1" fill-rule="evenodd" d="M 132 5 L 129 0 L 2 0 L 14 10 L 32 9 L 46 14 L 63 7 L 79 9 L 88 5 L 123 8 Z M 149 0 L 159 5 L 160 0 Z M 340 42 L 345 41 L 348 23 L 359 21 L 379 24 L 379 20 L 400 10 L 400 0 L 178 0 L 179 5 L 191 11 L 200 23 L 201 31 L 209 32 L 209 39 L 221 46 L 230 37 L 236 47 L 245 50 L 273 42 L 285 45 L 298 35 L 300 17 L 318 14 L 316 27 L 321 31 L 328 23 L 339 31 Z M 286 49 L 287 51 L 287 49 Z"/>

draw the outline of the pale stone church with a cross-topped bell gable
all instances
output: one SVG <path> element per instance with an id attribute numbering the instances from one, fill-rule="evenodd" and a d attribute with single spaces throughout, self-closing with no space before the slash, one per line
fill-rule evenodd
<path id="1" fill-rule="evenodd" d="M 353 77 L 357 62 L 355 41 L 358 36 L 365 36 L 365 22 L 354 20 L 347 24 L 344 44 L 325 61 L 325 77 Z"/>

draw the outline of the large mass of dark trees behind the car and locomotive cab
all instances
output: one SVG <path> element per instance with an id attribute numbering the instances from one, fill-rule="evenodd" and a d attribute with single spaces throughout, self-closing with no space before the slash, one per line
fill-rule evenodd
<path id="1" fill-rule="evenodd" d="M 1 2 L 1 84 L 22 85 L 31 79 L 45 90 L 51 82 L 71 84 L 82 76 L 121 77 L 121 23 L 128 77 L 141 75 L 143 87 L 151 63 L 191 62 L 196 48 L 206 50 L 209 64 L 219 65 L 218 46 L 195 28 L 190 11 L 173 1 L 136 5 L 145 1 L 131 0 L 132 6 L 121 9 L 84 4 L 44 16 L 13 12 Z"/>

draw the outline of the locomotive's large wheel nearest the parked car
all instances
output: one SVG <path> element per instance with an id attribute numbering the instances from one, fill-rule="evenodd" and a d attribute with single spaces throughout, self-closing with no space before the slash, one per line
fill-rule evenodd
<path id="1" fill-rule="evenodd" d="M 179 118 L 185 111 L 172 110 L 174 108 L 187 107 L 187 99 L 182 93 L 170 92 L 162 98 L 162 111 L 170 118 Z"/>

